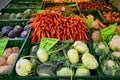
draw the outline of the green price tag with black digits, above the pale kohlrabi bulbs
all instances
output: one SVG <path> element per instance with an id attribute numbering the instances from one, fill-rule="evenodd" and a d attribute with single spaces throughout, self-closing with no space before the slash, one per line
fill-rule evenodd
<path id="1" fill-rule="evenodd" d="M 57 42 L 59 39 L 55 38 L 45 38 L 43 37 L 40 42 L 40 48 L 44 49 L 46 51 L 50 50 Z"/>

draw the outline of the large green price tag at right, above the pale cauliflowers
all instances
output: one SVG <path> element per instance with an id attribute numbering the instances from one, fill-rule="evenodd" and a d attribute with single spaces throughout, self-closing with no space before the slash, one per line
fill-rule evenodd
<path id="1" fill-rule="evenodd" d="M 117 23 L 101 30 L 103 41 L 106 41 L 107 43 L 110 41 L 111 37 L 115 33 L 116 26 L 117 26 Z"/>

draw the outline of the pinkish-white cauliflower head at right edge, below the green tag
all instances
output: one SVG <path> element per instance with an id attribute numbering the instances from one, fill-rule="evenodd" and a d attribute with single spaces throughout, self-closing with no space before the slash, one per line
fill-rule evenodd
<path id="1" fill-rule="evenodd" d="M 120 51 L 120 36 L 114 35 L 109 43 L 110 49 L 113 51 Z"/>

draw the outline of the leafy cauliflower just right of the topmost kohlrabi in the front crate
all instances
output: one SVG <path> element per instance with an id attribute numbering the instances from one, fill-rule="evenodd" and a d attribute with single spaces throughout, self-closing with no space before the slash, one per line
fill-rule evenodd
<path id="1" fill-rule="evenodd" d="M 94 42 L 95 53 L 98 56 L 109 53 L 109 47 L 105 42 Z"/>

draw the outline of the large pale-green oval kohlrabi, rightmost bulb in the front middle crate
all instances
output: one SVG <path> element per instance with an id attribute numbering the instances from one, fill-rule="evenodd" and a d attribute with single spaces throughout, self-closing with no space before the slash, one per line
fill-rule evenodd
<path id="1" fill-rule="evenodd" d="M 98 62 L 95 57 L 88 52 L 82 55 L 82 62 L 88 69 L 96 69 L 98 67 Z"/>

